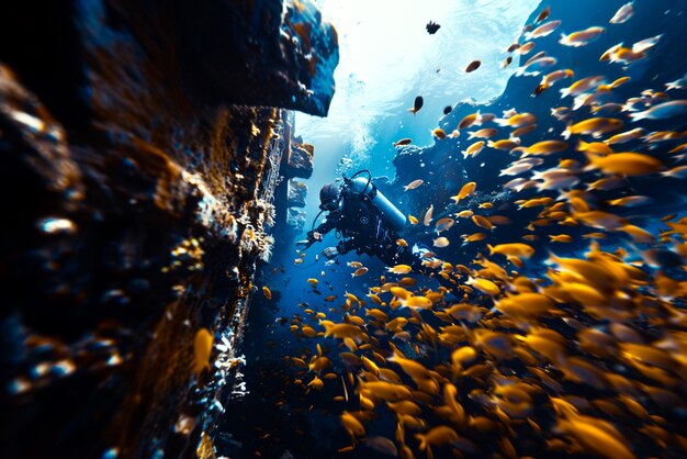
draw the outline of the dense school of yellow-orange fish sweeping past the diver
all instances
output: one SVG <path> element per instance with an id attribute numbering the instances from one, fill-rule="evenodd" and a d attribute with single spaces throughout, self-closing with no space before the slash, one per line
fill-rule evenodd
<path id="1" fill-rule="evenodd" d="M 529 27 L 530 42 L 509 52 L 525 55 L 536 47 L 537 38 L 552 33 L 561 22 L 543 22 L 549 14 L 544 10 Z M 610 23 L 617 26 L 632 14 L 628 3 Z M 560 43 L 585 46 L 601 33 L 604 27 L 589 27 L 564 35 Z M 660 37 L 653 37 L 631 47 L 620 44 L 600 60 L 630 64 L 658 43 Z M 541 72 L 552 65 L 538 61 L 544 58 L 551 56 L 530 59 L 527 71 Z M 628 79 L 581 77 L 561 91 L 562 101 L 573 98 L 573 107 L 563 103 L 551 111 L 565 123 L 558 138 L 552 134 L 526 146 L 520 137 L 536 131 L 537 119 L 515 110 L 503 119 L 474 113 L 455 131 L 460 135 L 472 126 L 494 123 L 518 133 L 492 141 L 496 128 L 473 131 L 470 138 L 482 141 L 463 155 L 509 152 L 518 159 L 502 175 L 529 173 L 529 178 L 514 178 L 504 188 L 514 195 L 527 189 L 550 192 L 514 200 L 519 209 L 541 209 L 525 242 L 489 244 L 494 226 L 510 223 L 506 216 L 486 213 L 491 202 L 462 209 L 436 222 L 433 245 L 442 248 L 454 242 L 451 227 L 459 219 L 470 219 L 476 232 L 462 235 L 459 243 L 482 244 L 478 257 L 451 264 L 429 254 L 425 261 L 453 286 L 450 291 L 432 289 L 427 272 L 414 276 L 418 273 L 409 266 L 398 265 L 373 281 L 369 292 L 346 293 L 339 304 L 325 311 L 306 309 L 291 321 L 294 334 L 316 343 L 311 354 L 289 357 L 294 383 L 307 392 L 327 391 L 340 403 L 340 422 L 350 441 L 339 452 L 367 444 L 406 459 L 492 454 L 518 458 L 544 452 L 624 459 L 657 451 L 674 457 L 686 454 L 687 281 L 662 270 L 654 254 L 672 251 L 683 260 L 678 271 L 687 271 L 687 217 L 666 215 L 658 231 L 645 229 L 608 206 L 640 205 L 646 197 L 619 195 L 600 206 L 594 193 L 618 189 L 627 177 L 685 179 L 687 144 L 671 152 L 671 166 L 653 153 L 616 148 L 642 136 L 646 145 L 679 141 L 687 132 L 620 132 L 626 122 L 610 115 L 631 112 L 630 123 L 663 120 L 685 113 L 687 101 L 646 90 L 624 103 L 606 102 Z M 554 70 L 537 91 L 550 90 L 565 78 L 573 78 L 572 70 Z M 568 121 L 583 107 L 592 109 L 592 117 Z M 443 131 L 435 135 L 446 137 Z M 533 170 L 551 155 L 563 155 L 558 167 Z M 405 189 L 421 184 L 416 180 Z M 477 189 L 475 182 L 465 183 L 449 210 L 458 210 Z M 429 226 L 433 211 L 432 205 L 421 221 L 410 216 L 410 223 Z M 539 237 L 539 227 L 556 224 L 562 229 L 549 235 L 548 270 L 536 278 L 521 273 L 536 251 L 526 242 Z M 567 226 L 589 228 L 583 236 L 589 239 L 584 257 L 554 255 L 575 242 L 564 231 Z M 599 240 L 609 235 L 622 237 L 613 239 L 613 249 L 602 249 Z M 407 245 L 404 239 L 397 244 Z M 371 276 L 362 264 L 353 268 L 352 276 Z M 393 437 L 367 436 L 373 419 L 392 423 Z"/>

